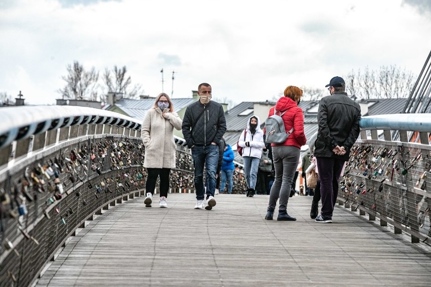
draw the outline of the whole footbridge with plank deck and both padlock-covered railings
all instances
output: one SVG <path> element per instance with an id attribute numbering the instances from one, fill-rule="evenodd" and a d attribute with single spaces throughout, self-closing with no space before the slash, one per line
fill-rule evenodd
<path id="1" fill-rule="evenodd" d="M 141 123 L 90 108 L 3 111 L 0 286 L 429 286 L 428 115 L 361 120 L 334 222 L 320 224 L 299 196 L 297 221 L 265 220 L 268 196 L 239 194 L 239 164 L 234 194 L 194 210 L 181 138 L 168 208 L 145 208 Z"/>

